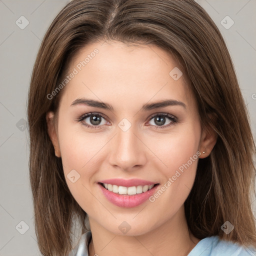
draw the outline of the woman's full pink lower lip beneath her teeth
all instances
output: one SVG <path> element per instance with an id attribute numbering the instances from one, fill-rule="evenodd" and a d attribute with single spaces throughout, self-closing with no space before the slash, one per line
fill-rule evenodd
<path id="1" fill-rule="evenodd" d="M 139 204 L 146 201 L 156 190 L 159 184 L 152 187 L 150 190 L 147 190 L 146 192 L 142 192 L 139 194 L 133 194 L 133 195 L 123 195 L 123 194 L 117 194 L 114 192 L 111 192 L 104 188 L 101 184 L 99 184 L 99 187 L 105 197 L 112 202 L 113 204 L 124 207 L 124 208 L 130 208 L 138 206 Z"/>

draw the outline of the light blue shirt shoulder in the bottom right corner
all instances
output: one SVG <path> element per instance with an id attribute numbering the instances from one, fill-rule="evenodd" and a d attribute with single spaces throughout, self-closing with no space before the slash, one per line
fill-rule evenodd
<path id="1" fill-rule="evenodd" d="M 255 256 L 256 247 L 244 247 L 238 243 L 209 236 L 201 239 L 187 256 Z"/>

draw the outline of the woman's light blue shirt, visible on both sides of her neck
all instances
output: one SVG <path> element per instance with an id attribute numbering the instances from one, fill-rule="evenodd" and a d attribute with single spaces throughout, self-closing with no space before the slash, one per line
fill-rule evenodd
<path id="1" fill-rule="evenodd" d="M 83 233 L 68 256 L 88 256 L 91 231 Z M 187 256 L 256 256 L 256 247 L 243 247 L 237 243 L 220 240 L 218 236 L 201 239 Z"/>

